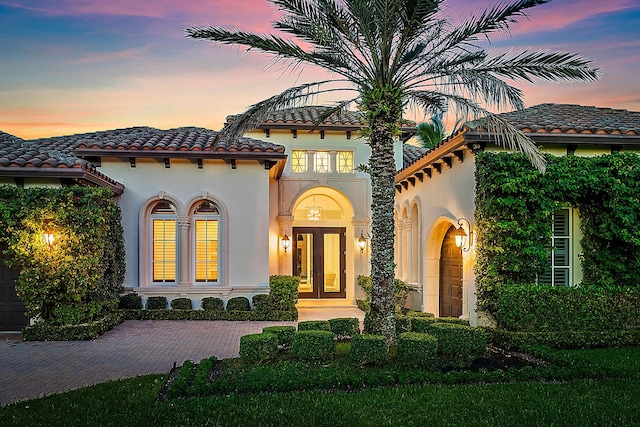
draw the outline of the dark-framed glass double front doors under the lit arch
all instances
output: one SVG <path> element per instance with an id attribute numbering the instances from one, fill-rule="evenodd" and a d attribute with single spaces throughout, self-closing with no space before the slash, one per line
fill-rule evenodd
<path id="1" fill-rule="evenodd" d="M 293 273 L 299 298 L 345 298 L 346 229 L 294 227 Z"/>

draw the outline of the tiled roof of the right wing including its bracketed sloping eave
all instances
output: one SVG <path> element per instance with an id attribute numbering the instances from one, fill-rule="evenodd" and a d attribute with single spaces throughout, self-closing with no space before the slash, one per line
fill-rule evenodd
<path id="1" fill-rule="evenodd" d="M 499 115 L 530 137 L 536 144 L 640 146 L 640 112 L 598 108 L 574 104 L 540 104 L 524 110 Z M 463 130 L 450 136 L 422 157 L 405 162 L 396 174 L 396 188 L 402 191 L 407 182 L 415 182 L 442 165 L 451 167 L 452 159 L 464 160 L 465 152 L 475 152 L 496 135 L 487 131 L 483 119 L 468 122 Z M 410 159 L 411 160 L 411 159 Z"/>

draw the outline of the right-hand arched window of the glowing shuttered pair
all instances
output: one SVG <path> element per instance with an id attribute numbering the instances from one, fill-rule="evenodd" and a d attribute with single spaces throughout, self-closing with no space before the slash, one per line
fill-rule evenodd
<path id="1" fill-rule="evenodd" d="M 202 201 L 193 212 L 194 269 L 196 282 L 219 281 L 220 211 L 209 201 Z"/>

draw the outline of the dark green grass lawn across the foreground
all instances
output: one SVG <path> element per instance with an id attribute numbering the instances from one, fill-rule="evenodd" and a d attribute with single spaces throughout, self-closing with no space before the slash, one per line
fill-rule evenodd
<path id="1" fill-rule="evenodd" d="M 640 349 L 574 350 L 611 378 L 244 394 L 157 402 L 160 375 L 109 382 L 0 410 L 2 426 L 640 425 Z"/>

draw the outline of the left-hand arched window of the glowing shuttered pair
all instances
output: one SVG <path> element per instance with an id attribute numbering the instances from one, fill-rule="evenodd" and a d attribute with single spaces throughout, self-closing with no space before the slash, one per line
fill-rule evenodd
<path id="1" fill-rule="evenodd" d="M 153 282 L 175 283 L 177 277 L 176 208 L 159 202 L 151 210 Z"/>

